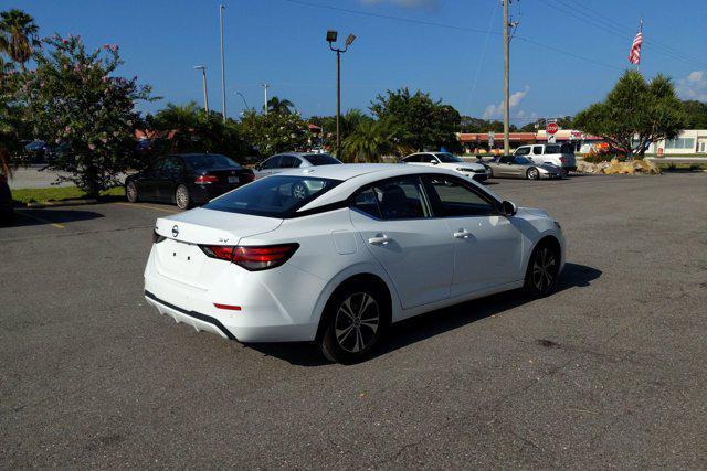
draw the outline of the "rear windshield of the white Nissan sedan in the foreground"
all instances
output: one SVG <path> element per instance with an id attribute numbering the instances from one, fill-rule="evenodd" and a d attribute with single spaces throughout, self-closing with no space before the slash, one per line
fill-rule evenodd
<path id="1" fill-rule="evenodd" d="M 339 180 L 310 176 L 267 176 L 233 190 L 203 207 L 255 216 L 288 217 L 339 183 Z"/>

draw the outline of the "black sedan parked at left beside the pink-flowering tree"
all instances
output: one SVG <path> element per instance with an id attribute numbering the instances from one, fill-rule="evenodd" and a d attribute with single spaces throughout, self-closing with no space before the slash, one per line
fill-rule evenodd
<path id="1" fill-rule="evenodd" d="M 157 159 L 152 165 L 125 179 L 129 202 L 176 203 L 181 210 L 203 204 L 254 180 L 244 169 L 218 153 L 182 153 Z"/>

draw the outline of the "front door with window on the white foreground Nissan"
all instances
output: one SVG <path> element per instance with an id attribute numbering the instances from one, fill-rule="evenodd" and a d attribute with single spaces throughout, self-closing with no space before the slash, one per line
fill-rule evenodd
<path id="1" fill-rule="evenodd" d="M 523 238 L 498 202 L 473 183 L 451 175 L 426 175 L 435 217 L 454 240 L 451 297 L 471 295 L 523 278 Z"/>

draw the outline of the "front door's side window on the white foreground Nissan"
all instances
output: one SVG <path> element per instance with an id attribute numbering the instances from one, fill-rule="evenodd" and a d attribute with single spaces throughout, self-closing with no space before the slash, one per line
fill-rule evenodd
<path id="1" fill-rule="evenodd" d="M 440 217 L 489 216 L 495 214 L 490 197 L 482 196 L 460 180 L 446 175 L 425 178 L 434 215 Z"/>

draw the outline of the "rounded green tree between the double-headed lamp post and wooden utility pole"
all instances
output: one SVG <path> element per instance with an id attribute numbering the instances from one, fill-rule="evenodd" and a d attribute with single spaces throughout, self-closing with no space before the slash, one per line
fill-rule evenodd
<path id="1" fill-rule="evenodd" d="M 404 87 L 395 92 L 387 90 L 371 101 L 370 110 L 379 120 L 388 120 L 405 129 L 405 144 L 415 149 L 460 147 L 456 132 L 461 116 L 450 105 L 433 100 L 430 94 L 420 90 L 411 94 Z"/>

